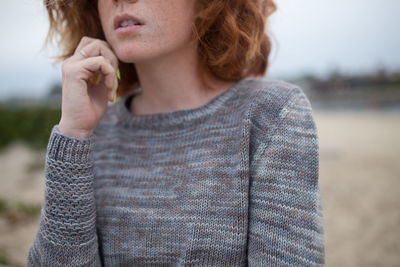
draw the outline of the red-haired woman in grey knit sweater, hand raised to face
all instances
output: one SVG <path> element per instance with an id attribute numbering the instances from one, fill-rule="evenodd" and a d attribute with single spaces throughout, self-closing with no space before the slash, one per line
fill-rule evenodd
<path id="1" fill-rule="evenodd" d="M 311 105 L 254 77 L 271 0 L 45 3 L 62 116 L 29 266 L 324 264 Z"/>

